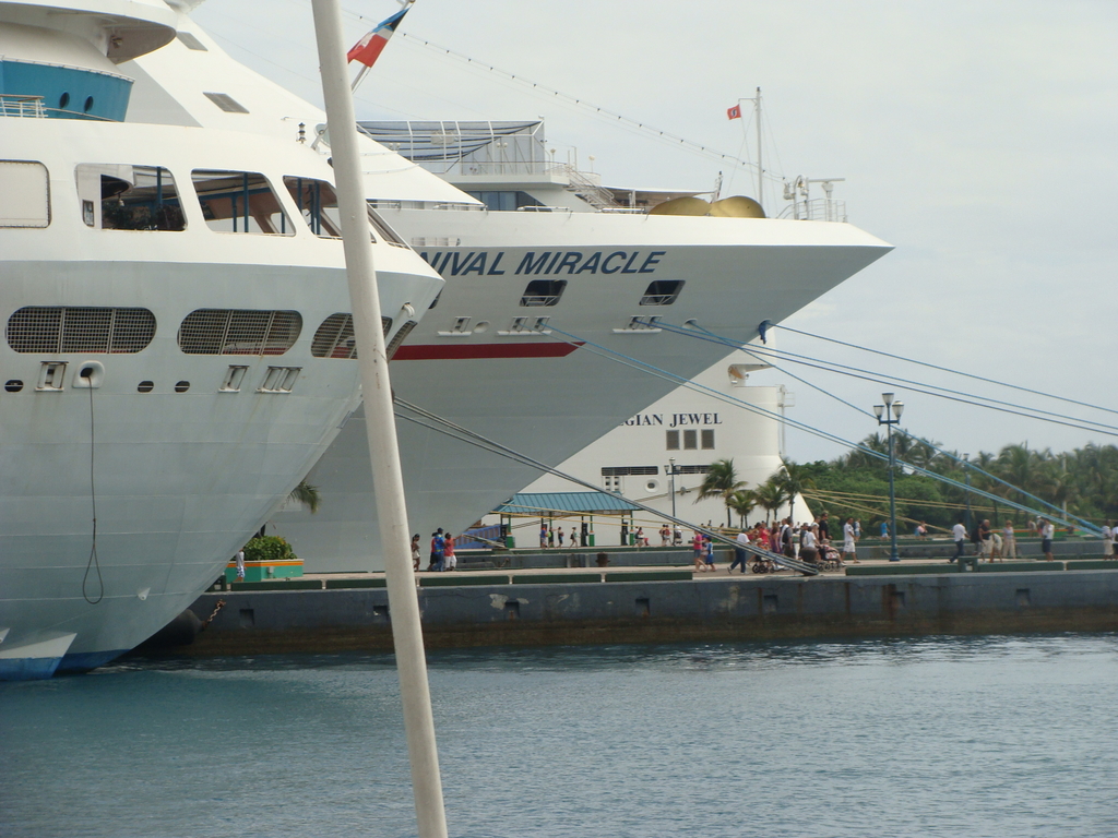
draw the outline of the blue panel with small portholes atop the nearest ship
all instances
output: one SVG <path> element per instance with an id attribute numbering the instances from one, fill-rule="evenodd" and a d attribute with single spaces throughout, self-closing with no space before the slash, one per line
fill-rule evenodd
<path id="1" fill-rule="evenodd" d="M 0 94 L 41 96 L 47 116 L 123 122 L 132 79 L 32 61 L 0 60 Z"/>

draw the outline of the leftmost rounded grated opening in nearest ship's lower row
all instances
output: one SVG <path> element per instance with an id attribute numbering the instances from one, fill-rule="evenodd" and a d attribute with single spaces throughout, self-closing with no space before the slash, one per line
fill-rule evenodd
<path id="1" fill-rule="evenodd" d="M 155 336 L 146 308 L 26 306 L 8 318 L 16 352 L 141 352 Z"/>

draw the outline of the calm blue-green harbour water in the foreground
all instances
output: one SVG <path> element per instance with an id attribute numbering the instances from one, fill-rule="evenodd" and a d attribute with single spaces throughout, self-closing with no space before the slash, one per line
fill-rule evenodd
<path id="1" fill-rule="evenodd" d="M 451 835 L 1116 836 L 1118 635 L 432 656 Z M 0 684 L 0 836 L 409 836 L 385 656 Z"/>

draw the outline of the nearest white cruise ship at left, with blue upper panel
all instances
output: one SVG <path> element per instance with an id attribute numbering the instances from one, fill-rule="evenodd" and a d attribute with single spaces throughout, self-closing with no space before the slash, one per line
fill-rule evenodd
<path id="1" fill-rule="evenodd" d="M 326 161 L 129 114 L 122 63 L 179 22 L 161 0 L 0 2 L 0 678 L 165 625 L 358 403 Z M 373 227 L 395 341 L 443 282 Z"/>

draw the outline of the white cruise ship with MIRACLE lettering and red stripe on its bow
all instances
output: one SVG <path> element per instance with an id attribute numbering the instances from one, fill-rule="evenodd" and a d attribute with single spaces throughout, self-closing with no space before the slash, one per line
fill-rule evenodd
<path id="1" fill-rule="evenodd" d="M 142 112 L 329 154 L 321 111 L 238 65 L 196 25 L 134 64 Z M 215 108 L 214 89 L 235 106 Z M 551 163 L 534 123 L 482 125 L 397 125 L 377 134 L 385 142 L 364 144 L 370 202 L 446 279 L 399 347 L 392 383 L 401 402 L 544 463 L 562 461 L 675 387 L 600 352 L 684 379 L 726 354 L 652 318 L 694 321 L 745 342 L 762 321 L 779 322 L 890 249 L 847 223 L 646 215 L 639 206 L 667 194 L 626 190 L 620 202 L 637 206 L 599 211 L 601 194 Z M 435 146 L 456 168 L 416 153 Z M 518 209 L 500 211 L 510 201 Z M 319 513 L 274 518 L 315 570 L 380 566 L 362 421 L 360 411 L 348 420 L 309 477 L 322 493 Z M 399 440 L 418 532 L 461 531 L 538 476 L 415 422 L 399 423 Z"/>

